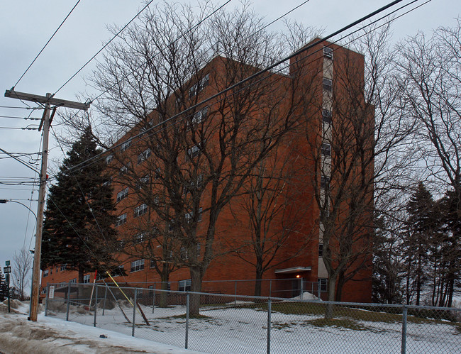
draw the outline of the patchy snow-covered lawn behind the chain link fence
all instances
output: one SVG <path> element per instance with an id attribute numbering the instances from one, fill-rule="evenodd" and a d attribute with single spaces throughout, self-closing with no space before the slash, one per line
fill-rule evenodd
<path id="1" fill-rule="evenodd" d="M 128 319 L 133 319 L 133 307 L 126 301 L 120 303 Z M 401 315 L 378 316 L 379 314 L 372 311 L 356 310 L 367 312 L 367 315 L 356 316 L 354 319 L 345 314 L 325 323 L 321 313 L 290 313 L 288 306 L 293 304 L 287 302 L 272 306 L 271 353 L 401 351 Z M 238 302 L 236 306 L 223 304 L 202 307 L 201 318 L 189 319 L 188 348 L 205 353 L 266 353 L 267 311 L 262 307 L 244 302 Z M 141 309 L 149 324 L 136 313 L 136 337 L 184 348 L 184 306 L 155 307 L 153 313 L 152 306 L 141 306 Z M 55 302 L 50 306 L 49 315 L 65 319 L 65 310 L 63 303 Z M 118 306 L 105 309 L 104 316 L 102 313 L 102 309 L 98 309 L 96 313 L 99 328 L 131 334 L 133 325 L 123 316 Z M 71 306 L 70 321 L 92 326 L 94 311 Z M 460 323 L 413 320 L 407 323 L 406 331 L 407 353 L 461 353 Z"/>

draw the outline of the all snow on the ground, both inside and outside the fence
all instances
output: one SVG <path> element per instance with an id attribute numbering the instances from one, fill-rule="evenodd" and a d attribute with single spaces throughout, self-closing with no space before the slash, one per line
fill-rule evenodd
<path id="1" fill-rule="evenodd" d="M 304 295 L 303 295 L 304 297 Z M 119 302 L 129 319 L 133 307 Z M 313 304 L 321 303 L 314 302 Z M 278 306 L 289 306 L 281 302 Z M 96 313 L 70 306 L 65 321 L 62 303 L 50 304 L 48 317 L 31 323 L 21 314 L 0 312 L 1 353 L 191 353 L 184 348 L 185 307 L 141 305 L 149 326 L 135 314 L 135 336 L 118 306 Z M 399 353 L 401 322 L 348 319 L 343 316 L 325 326 L 321 314 L 284 314 L 272 309 L 271 353 Z M 278 307 L 280 309 L 280 307 Z M 1 310 L 1 309 L 0 309 Z M 17 311 L 26 312 L 26 305 Z M 356 309 L 354 311 L 361 311 Z M 258 304 L 221 304 L 202 307 L 203 318 L 189 319 L 189 348 L 204 353 L 266 353 L 267 311 Z M 360 316 L 361 318 L 362 316 Z M 366 317 L 364 317 L 366 318 Z M 337 321 L 337 322 L 335 322 Z M 5 323 L 5 324 L 4 324 Z M 350 325 L 348 325 L 350 323 Z M 84 326 L 87 325 L 87 326 Z M 407 353 L 461 353 L 460 330 L 455 323 L 409 321 Z M 108 338 L 99 338 L 104 334 Z M 149 340 L 149 341 L 148 341 Z M 162 342 L 166 344 L 159 344 Z M 41 350 L 41 351 L 40 351 Z"/>

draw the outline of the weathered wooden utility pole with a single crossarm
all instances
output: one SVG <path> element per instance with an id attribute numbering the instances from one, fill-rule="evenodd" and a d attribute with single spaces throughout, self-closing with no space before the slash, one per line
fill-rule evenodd
<path id="1" fill-rule="evenodd" d="M 39 104 L 45 104 L 43 117 L 40 121 L 38 131 L 43 128 L 43 147 L 42 147 L 42 168 L 40 170 L 40 189 L 38 190 L 38 211 L 37 211 L 37 231 L 35 233 L 35 250 L 33 253 L 33 269 L 32 269 L 32 291 L 30 292 L 30 321 L 37 321 L 38 314 L 38 298 L 40 297 L 40 258 L 42 255 L 42 231 L 43 231 L 43 211 L 45 209 L 45 192 L 47 179 L 48 165 L 48 135 L 52 118 L 55 116 L 57 107 L 67 107 L 71 109 L 82 109 L 87 111 L 89 104 L 82 104 L 65 99 L 55 99 L 51 94 L 46 96 L 38 96 L 36 94 L 26 94 L 16 92 L 13 89 L 6 90 L 5 97 L 12 99 L 21 99 L 21 101 L 33 101 Z M 54 106 L 50 117 L 51 106 Z"/>

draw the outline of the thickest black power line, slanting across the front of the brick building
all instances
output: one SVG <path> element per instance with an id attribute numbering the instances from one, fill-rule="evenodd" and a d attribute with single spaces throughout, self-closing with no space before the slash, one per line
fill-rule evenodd
<path id="1" fill-rule="evenodd" d="M 249 77 L 246 77 L 245 79 L 240 80 L 240 82 L 237 82 L 237 83 L 235 83 L 235 84 L 230 85 L 230 87 L 227 87 L 226 89 L 223 89 L 223 90 L 221 90 L 220 92 L 218 92 L 218 93 L 216 93 L 216 94 L 213 94 L 213 95 L 209 96 L 208 98 L 206 98 L 206 99 L 200 101 L 199 103 L 194 104 L 193 106 L 190 106 L 190 107 L 187 108 L 187 109 L 184 109 L 184 111 L 181 111 L 181 112 L 179 112 L 178 114 L 174 114 L 174 115 L 171 116 L 170 118 L 165 119 L 165 121 L 162 121 L 162 122 L 160 122 L 160 123 L 157 123 L 157 124 L 155 124 L 154 126 L 145 129 L 145 131 L 140 132 L 140 133 L 138 133 L 138 134 L 136 134 L 136 135 L 133 135 L 133 137 L 131 137 L 131 139 L 133 140 L 133 139 L 135 139 L 135 138 L 140 138 L 142 135 L 144 135 L 145 133 L 148 133 L 149 131 L 153 131 L 155 128 L 158 128 L 158 127 L 160 127 L 160 126 L 165 126 L 166 123 L 169 123 L 170 121 L 174 121 L 175 118 L 178 118 L 178 117 L 181 116 L 182 114 L 184 114 L 184 113 L 186 113 L 186 112 L 188 112 L 188 111 L 192 111 L 193 109 L 199 108 L 200 106 L 203 106 L 203 104 L 206 104 L 207 102 L 211 101 L 212 99 L 218 98 L 218 97 L 221 96 L 222 94 L 225 94 L 226 92 L 229 92 L 230 90 L 237 88 L 237 87 L 240 86 L 241 84 L 245 84 L 246 82 L 249 82 L 250 80 L 255 79 L 256 77 L 259 77 L 260 75 L 264 74 L 265 72 L 270 72 L 270 70 L 274 69 L 274 67 L 277 67 L 277 66 L 279 66 L 279 65 L 282 65 L 284 62 L 287 62 L 287 60 L 290 60 L 291 58 L 295 57 L 296 55 L 299 55 L 299 54 L 301 54 L 302 52 L 305 52 L 305 51 L 307 51 L 307 50 L 313 48 L 314 46 L 316 46 L 316 45 L 318 45 L 318 44 L 321 44 L 321 43 L 323 43 L 324 41 L 326 41 L 326 40 L 328 40 L 328 39 L 330 39 L 330 38 L 333 38 L 335 35 L 338 35 L 338 34 L 340 34 L 340 33 L 342 33 L 342 32 L 347 31 L 348 29 L 350 29 L 350 28 L 356 26 L 358 23 L 361 23 L 361 22 L 363 22 L 363 21 L 366 21 L 367 19 L 369 19 L 369 18 L 371 18 L 371 17 L 377 15 L 378 13 L 381 13 L 382 11 L 385 11 L 385 10 L 389 9 L 391 6 L 394 6 L 394 5 L 396 5 L 396 4 L 399 4 L 401 1 L 403 1 L 403 0 L 394 0 L 394 1 L 392 1 L 391 3 L 389 3 L 389 4 L 385 5 L 385 6 L 382 6 L 381 8 L 379 8 L 379 9 L 373 11 L 372 13 L 369 13 L 369 14 L 367 14 L 366 16 L 362 16 L 362 18 L 360 18 L 360 19 L 358 19 L 358 20 L 356 20 L 356 21 L 354 21 L 354 22 L 348 24 L 347 26 L 344 26 L 343 28 L 340 28 L 338 31 L 335 31 L 335 32 L 331 33 L 330 35 L 327 35 L 326 37 L 323 37 L 323 38 L 321 38 L 321 39 L 319 39 L 319 40 L 316 40 L 315 42 L 313 42 L 313 43 L 311 43 L 311 44 L 309 44 L 309 45 L 306 45 L 304 48 L 301 48 L 301 49 L 299 49 L 299 50 L 296 50 L 294 53 L 292 53 L 291 55 L 288 55 L 287 57 L 284 57 L 282 60 L 279 60 L 279 61 L 275 62 L 274 64 L 269 65 L 269 66 L 266 67 L 265 69 L 262 69 L 262 70 L 256 72 L 255 74 L 252 74 L 252 75 L 250 75 Z M 409 4 L 413 4 L 413 3 L 416 2 L 416 1 L 418 1 L 418 0 L 413 0 L 413 1 L 412 1 L 411 3 L 409 3 Z M 429 0 L 429 1 L 431 1 L 431 0 Z M 409 6 L 409 4 L 406 4 L 405 6 Z M 403 8 L 403 7 L 404 7 L 404 6 L 402 6 L 401 8 Z M 400 9 L 401 9 L 401 8 L 400 8 Z M 387 15 L 387 16 L 388 16 L 388 15 Z M 359 31 L 359 30 L 357 30 L 357 31 Z M 103 92 L 103 94 L 104 94 L 104 92 Z M 99 95 L 99 96 L 101 96 L 101 95 Z M 99 96 L 98 96 L 98 97 L 99 97 Z M 98 97 L 96 97 L 96 98 L 98 98 Z M 89 158 L 87 161 L 80 162 L 78 165 L 76 165 L 76 166 L 74 166 L 74 167 L 71 167 L 70 169 L 67 169 L 67 170 L 65 170 L 64 172 L 70 172 L 70 171 L 74 170 L 75 168 L 81 167 L 81 166 L 84 165 L 84 163 L 86 163 L 86 162 L 89 162 L 89 161 L 91 161 L 91 160 L 96 160 L 97 158 L 106 155 L 107 151 L 111 151 L 111 150 L 114 150 L 114 149 L 116 149 L 116 148 L 119 148 L 122 144 L 123 144 L 123 142 L 122 142 L 122 143 L 118 143 L 118 144 L 116 144 L 116 145 L 113 145 L 113 146 L 111 146 L 111 148 L 107 149 L 107 150 L 104 151 L 103 153 L 100 153 L 99 155 L 95 155 L 94 157 Z"/>

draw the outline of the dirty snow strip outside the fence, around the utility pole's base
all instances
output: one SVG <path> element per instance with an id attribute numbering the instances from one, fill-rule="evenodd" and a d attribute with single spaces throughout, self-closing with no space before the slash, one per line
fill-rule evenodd
<path id="1" fill-rule="evenodd" d="M 2 354 L 73 354 L 73 353 L 198 353 L 171 345 L 133 338 L 118 332 L 84 326 L 77 322 L 38 315 L 37 322 L 27 320 L 28 304 L 13 304 L 7 312 L 0 303 L 0 353 Z M 106 338 L 100 338 L 104 335 Z"/>

